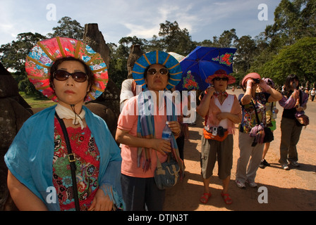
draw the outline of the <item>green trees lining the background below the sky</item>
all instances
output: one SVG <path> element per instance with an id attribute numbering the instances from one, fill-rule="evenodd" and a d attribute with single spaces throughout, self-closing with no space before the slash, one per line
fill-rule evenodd
<path id="1" fill-rule="evenodd" d="M 127 60 L 130 46 L 139 44 L 143 52 L 161 50 L 187 56 L 196 46 L 210 46 L 237 49 L 233 59 L 233 76 L 237 84 L 248 72 L 259 72 L 262 77 L 272 77 L 274 82 L 283 84 L 286 76 L 294 73 L 310 83 L 316 81 L 316 1 L 281 0 L 274 11 L 274 24 L 267 25 L 257 37 L 237 37 L 236 30 L 224 30 L 219 37 L 204 41 L 193 41 L 186 28 L 181 29 L 176 21 L 160 24 L 158 35 L 152 39 L 122 37 L 119 44 L 108 44 L 111 49 L 109 75 L 117 86 L 127 78 Z M 84 29 L 76 20 L 63 17 L 49 37 L 71 37 L 83 39 Z M 34 91 L 25 75 L 25 57 L 37 41 L 45 39 L 42 34 L 31 32 L 18 34 L 18 41 L 4 44 L 0 48 L 0 60 L 5 68 L 16 71 L 13 77 L 20 89 Z M 37 93 L 38 91 L 35 91 Z"/>

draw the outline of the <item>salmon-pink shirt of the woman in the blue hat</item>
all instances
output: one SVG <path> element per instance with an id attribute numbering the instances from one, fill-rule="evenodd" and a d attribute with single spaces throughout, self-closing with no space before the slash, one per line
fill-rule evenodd
<path id="1" fill-rule="evenodd" d="M 128 112 L 128 113 L 126 113 Z M 124 105 L 121 115 L 118 120 L 118 128 L 123 129 L 125 131 L 129 131 L 129 134 L 132 136 L 137 136 L 137 124 L 138 124 L 138 96 L 130 98 Z M 166 125 L 166 113 L 164 115 L 159 115 L 156 109 L 157 115 L 154 116 L 154 132 L 155 138 L 162 138 L 162 130 Z M 125 115 L 127 114 L 127 115 Z M 130 115 L 128 115 L 130 114 Z M 144 139 L 144 141 L 146 141 Z M 145 172 L 142 167 L 138 167 L 138 149 L 136 147 L 126 146 L 124 144 L 121 145 L 121 156 L 122 156 L 122 165 L 121 165 L 121 173 L 126 176 L 134 176 L 140 178 L 148 178 L 154 177 L 154 170 L 157 167 L 157 156 L 158 155 L 160 162 L 166 161 L 166 156 L 157 152 L 154 149 L 150 149 L 150 158 L 151 158 L 151 167 Z M 142 157 L 142 160 L 145 158 Z"/>

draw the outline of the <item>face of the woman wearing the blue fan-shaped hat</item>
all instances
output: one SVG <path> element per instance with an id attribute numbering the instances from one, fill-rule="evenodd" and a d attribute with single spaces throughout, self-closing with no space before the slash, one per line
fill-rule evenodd
<path id="1" fill-rule="evenodd" d="M 150 69 L 154 69 L 157 72 L 154 75 L 150 75 L 147 73 L 147 77 L 145 78 L 145 84 L 147 84 L 148 90 L 150 91 L 164 91 L 168 84 L 168 75 L 162 75 L 159 71 L 162 68 L 165 68 L 161 64 L 153 64 L 150 65 Z"/>

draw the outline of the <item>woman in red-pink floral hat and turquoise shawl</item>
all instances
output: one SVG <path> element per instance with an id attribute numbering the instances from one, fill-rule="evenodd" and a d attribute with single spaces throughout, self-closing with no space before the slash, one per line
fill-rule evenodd
<path id="1" fill-rule="evenodd" d="M 45 39 L 31 49 L 25 71 L 57 105 L 25 121 L 4 157 L 18 210 L 124 209 L 121 151 L 106 122 L 84 105 L 109 79 L 99 53 L 75 39 Z"/>

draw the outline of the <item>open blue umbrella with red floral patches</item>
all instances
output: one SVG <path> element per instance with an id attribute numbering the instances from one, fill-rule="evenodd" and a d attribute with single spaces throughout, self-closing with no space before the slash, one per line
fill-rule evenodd
<path id="1" fill-rule="evenodd" d="M 233 55 L 236 50 L 197 46 L 180 62 L 183 74 L 176 90 L 205 90 L 209 86 L 205 79 L 215 71 L 222 69 L 227 74 L 233 72 Z"/>

